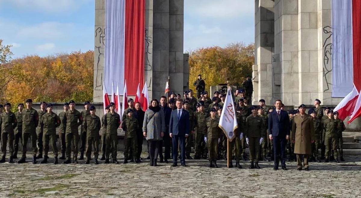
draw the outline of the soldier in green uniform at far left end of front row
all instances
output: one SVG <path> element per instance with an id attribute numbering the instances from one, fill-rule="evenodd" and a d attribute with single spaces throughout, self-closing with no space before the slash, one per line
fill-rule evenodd
<path id="1" fill-rule="evenodd" d="M 0 126 L 1 126 L 1 152 L 3 152 L 3 157 L 0 160 L 0 163 L 5 162 L 6 156 L 6 145 L 9 144 L 9 153 L 10 159 L 9 163 L 14 163 L 13 153 L 14 153 L 14 129 L 17 125 L 16 116 L 13 112 L 10 111 L 11 104 L 4 104 L 5 112 L 0 114 Z"/>

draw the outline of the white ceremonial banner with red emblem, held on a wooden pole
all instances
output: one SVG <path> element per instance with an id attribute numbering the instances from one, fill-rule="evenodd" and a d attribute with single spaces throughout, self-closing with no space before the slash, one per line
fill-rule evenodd
<path id="1" fill-rule="evenodd" d="M 234 131 L 238 128 L 235 112 L 231 90 L 228 88 L 218 126 L 226 134 L 229 141 L 232 141 L 235 138 Z"/>

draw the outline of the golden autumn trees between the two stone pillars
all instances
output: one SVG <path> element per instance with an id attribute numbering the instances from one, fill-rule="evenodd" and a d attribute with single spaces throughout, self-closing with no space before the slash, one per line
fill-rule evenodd
<path id="1" fill-rule="evenodd" d="M 226 83 L 227 78 L 231 85 L 241 86 L 245 78 L 252 75 L 252 65 L 255 63 L 254 44 L 242 42 L 224 48 L 199 48 L 188 53 L 189 84 L 193 85 L 198 74 L 202 74 L 208 91 L 210 86 Z"/>

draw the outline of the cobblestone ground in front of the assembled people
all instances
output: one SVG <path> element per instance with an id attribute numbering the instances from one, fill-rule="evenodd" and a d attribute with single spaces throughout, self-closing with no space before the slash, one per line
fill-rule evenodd
<path id="1" fill-rule="evenodd" d="M 148 160 L 33 165 L 28 158 L 25 164 L 0 164 L 0 197 L 361 197 L 361 156 L 345 160 L 311 162 L 310 171 L 297 171 L 296 162 L 287 162 L 288 170 L 275 171 L 272 162 L 249 170 L 246 162 L 243 169 L 228 169 L 223 160 L 220 168 L 208 168 L 206 160 L 171 168 L 165 163 L 149 167 Z"/>

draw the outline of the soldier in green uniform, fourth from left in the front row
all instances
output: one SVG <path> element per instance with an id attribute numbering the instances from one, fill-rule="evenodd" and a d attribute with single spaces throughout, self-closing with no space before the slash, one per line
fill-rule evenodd
<path id="1" fill-rule="evenodd" d="M 63 163 L 71 163 L 71 143 L 73 142 L 73 163 L 78 163 L 78 142 L 79 142 L 79 129 L 78 127 L 83 123 L 82 114 L 75 109 L 74 100 L 69 101 L 69 110 L 65 113 L 63 121 L 66 123 L 65 130 L 65 143 L 66 143 L 66 161 Z"/>

